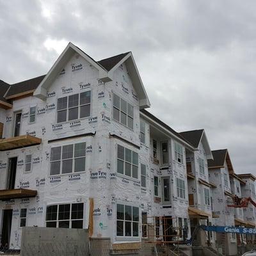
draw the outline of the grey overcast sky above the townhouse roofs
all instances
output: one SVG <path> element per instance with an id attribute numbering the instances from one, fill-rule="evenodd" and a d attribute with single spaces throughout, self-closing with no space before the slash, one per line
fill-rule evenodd
<path id="1" fill-rule="evenodd" d="M 45 74 L 68 42 L 95 60 L 132 51 L 151 113 L 256 174 L 256 1 L 0 0 L 0 79 Z"/>

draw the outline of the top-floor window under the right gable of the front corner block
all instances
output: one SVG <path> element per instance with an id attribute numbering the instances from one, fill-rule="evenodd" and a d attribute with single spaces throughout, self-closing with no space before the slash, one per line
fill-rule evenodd
<path id="1" fill-rule="evenodd" d="M 113 118 L 117 122 L 133 129 L 132 105 L 115 94 L 113 95 L 113 98 Z"/>

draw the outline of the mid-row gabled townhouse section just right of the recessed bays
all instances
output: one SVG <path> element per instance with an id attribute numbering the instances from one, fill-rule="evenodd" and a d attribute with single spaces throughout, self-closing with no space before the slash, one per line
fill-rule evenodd
<path id="1" fill-rule="evenodd" d="M 180 132 L 196 150 L 186 149 L 186 166 L 188 172 L 188 196 L 191 232 L 193 244 L 205 246 L 211 243 L 215 247 L 214 232 L 205 233 L 203 230 L 196 230 L 198 225 L 213 225 L 213 218 L 218 217 L 212 214 L 211 188 L 216 186 L 209 182 L 207 161 L 212 159 L 212 152 L 204 129 Z"/>

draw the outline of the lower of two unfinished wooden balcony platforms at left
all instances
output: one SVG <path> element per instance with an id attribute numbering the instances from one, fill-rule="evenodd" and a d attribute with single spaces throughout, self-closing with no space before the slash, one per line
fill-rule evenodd
<path id="1" fill-rule="evenodd" d="M 2 189 L 0 190 L 0 200 L 10 200 L 15 198 L 35 197 L 36 190 L 31 189 Z"/>

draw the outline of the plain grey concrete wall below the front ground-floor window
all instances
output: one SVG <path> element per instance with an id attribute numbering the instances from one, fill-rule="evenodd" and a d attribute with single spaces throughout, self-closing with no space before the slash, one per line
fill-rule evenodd
<path id="1" fill-rule="evenodd" d="M 20 256 L 89 255 L 88 230 L 75 228 L 22 228 Z"/>

